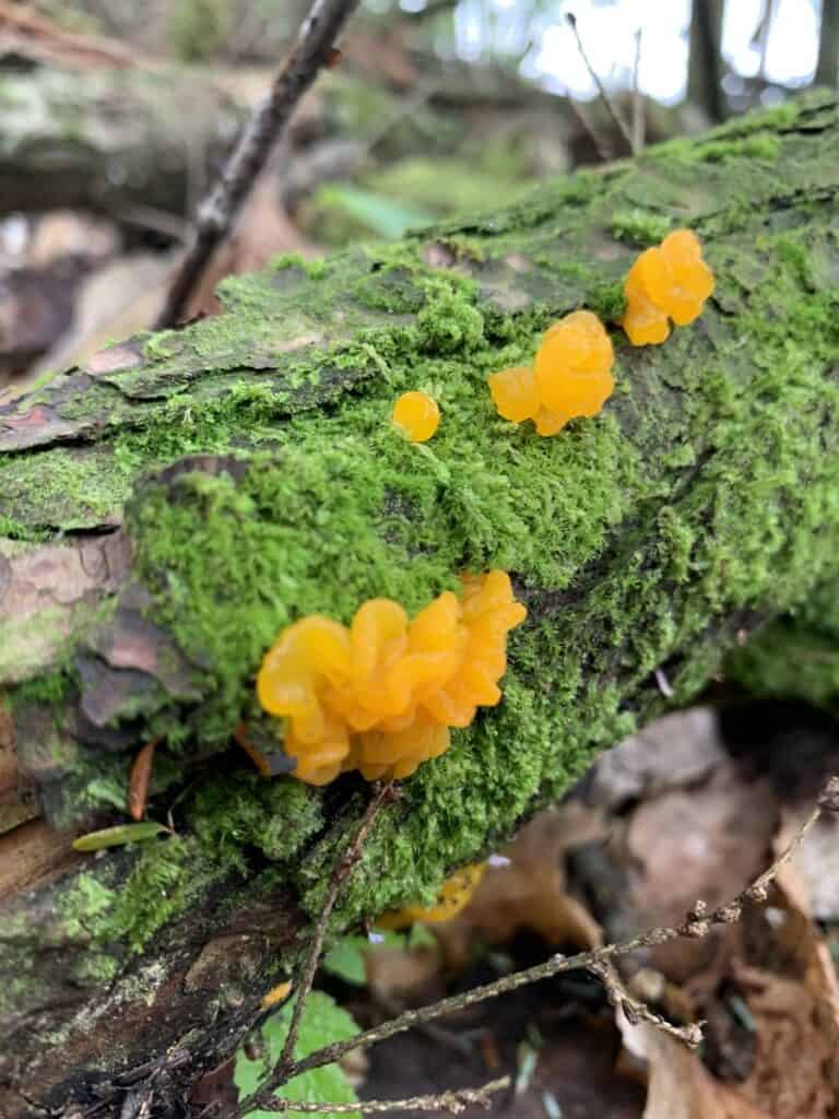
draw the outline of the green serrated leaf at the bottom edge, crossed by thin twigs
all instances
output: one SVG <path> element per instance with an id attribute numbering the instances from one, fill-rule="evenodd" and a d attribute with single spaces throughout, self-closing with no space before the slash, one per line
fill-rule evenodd
<path id="1" fill-rule="evenodd" d="M 282 1009 L 273 1014 L 262 1027 L 263 1054 L 256 1060 L 248 1057 L 244 1050 L 236 1054 L 236 1065 L 233 1082 L 238 1089 L 239 1102 L 252 1096 L 264 1081 L 267 1071 L 280 1060 L 283 1045 L 289 1033 L 294 1000 L 286 1003 Z M 311 991 L 305 1003 L 300 1023 L 298 1044 L 294 1046 L 294 1057 L 300 1060 L 315 1050 L 332 1042 L 345 1041 L 358 1033 L 358 1026 L 350 1015 L 322 991 Z M 311 1069 L 290 1080 L 279 1088 L 274 1096 L 307 1103 L 355 1103 L 358 1097 L 343 1070 L 338 1064 L 327 1064 L 321 1069 Z M 300 1111 L 287 1111 L 286 1115 L 303 1119 Z M 245 1119 L 276 1119 L 276 1111 L 248 1111 Z M 331 1112 L 326 1119 L 341 1119 Z M 349 1119 L 361 1119 L 361 1113 L 353 1111 Z"/>

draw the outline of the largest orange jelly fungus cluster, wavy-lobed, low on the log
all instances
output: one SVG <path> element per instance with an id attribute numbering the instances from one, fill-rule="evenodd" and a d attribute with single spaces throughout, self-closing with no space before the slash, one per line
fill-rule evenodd
<path id="1" fill-rule="evenodd" d="M 347 628 L 311 614 L 267 651 L 256 694 L 285 720 L 294 775 L 326 784 L 357 769 L 368 781 L 404 778 L 449 749 L 449 728 L 501 698 L 507 633 L 527 611 L 502 571 L 466 575 L 413 619 L 370 599 Z"/>

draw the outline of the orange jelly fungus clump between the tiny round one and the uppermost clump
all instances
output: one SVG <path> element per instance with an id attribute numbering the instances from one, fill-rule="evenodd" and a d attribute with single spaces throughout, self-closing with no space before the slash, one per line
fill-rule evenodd
<path id="1" fill-rule="evenodd" d="M 489 377 L 498 414 L 532 420 L 540 435 L 555 435 L 576 416 L 595 416 L 612 395 L 614 350 L 591 311 L 574 311 L 547 331 L 534 368 L 503 369 Z"/>

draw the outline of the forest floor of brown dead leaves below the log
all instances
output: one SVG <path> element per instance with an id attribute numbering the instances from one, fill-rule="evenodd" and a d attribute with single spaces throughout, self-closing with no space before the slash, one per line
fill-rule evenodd
<path id="1" fill-rule="evenodd" d="M 369 1028 L 557 951 L 678 922 L 697 899 L 719 904 L 769 865 L 838 763 L 839 726 L 799 705 L 668 715 L 527 825 L 500 853 L 509 863 L 487 869 L 458 916 L 383 946 L 348 938 L 315 988 Z M 823 818 L 766 906 L 701 941 L 621 962 L 626 989 L 667 1021 L 705 1022 L 696 1051 L 629 1022 L 600 982 L 568 972 L 352 1053 L 347 1079 L 362 1100 L 390 1100 L 508 1074 L 491 1108 L 507 1119 L 828 1119 L 839 1041 L 837 840 L 839 824 Z M 230 1064 L 196 1100 L 236 1098 Z"/>

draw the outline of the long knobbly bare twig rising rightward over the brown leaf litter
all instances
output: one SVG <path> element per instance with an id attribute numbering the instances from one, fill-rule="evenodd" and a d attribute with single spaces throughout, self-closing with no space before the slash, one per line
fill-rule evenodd
<path id="1" fill-rule="evenodd" d="M 519 987 L 537 982 L 540 979 L 548 979 L 563 971 L 596 970 L 597 968 L 602 968 L 604 963 L 618 957 L 629 956 L 640 948 L 654 948 L 668 941 L 678 940 L 681 937 L 700 940 L 709 934 L 715 924 L 733 924 L 739 921 L 743 915 L 744 905 L 748 903 L 760 904 L 766 901 L 769 897 L 769 886 L 777 876 L 781 868 L 794 856 L 808 831 L 823 811 L 839 811 L 839 778 L 833 777 L 827 782 L 819 794 L 818 802 L 812 812 L 795 833 L 790 845 L 777 856 L 769 869 L 764 871 L 745 890 L 741 891 L 736 897 L 723 905 L 718 905 L 715 910 L 709 911 L 705 902 L 698 901 L 680 925 L 650 929 L 647 932 L 639 933 L 639 935 L 633 937 L 631 940 L 614 944 L 604 944 L 602 948 L 595 948 L 587 952 L 578 952 L 576 956 L 552 956 L 544 963 L 537 963 L 535 967 L 526 968 L 522 971 L 513 971 L 511 975 L 503 976 L 503 978 L 497 979 L 494 982 L 484 984 L 482 987 L 473 987 L 462 995 L 453 995 L 450 998 L 441 999 L 439 1003 L 432 1003 L 430 1006 L 423 1006 L 415 1010 L 406 1010 L 396 1018 L 383 1022 L 381 1025 L 356 1034 L 347 1041 L 334 1042 L 332 1045 L 317 1050 L 314 1053 L 310 1053 L 309 1056 L 285 1066 L 282 1072 L 274 1070 L 262 1089 L 245 1101 L 246 1110 L 265 1107 L 271 1099 L 272 1091 L 292 1076 L 298 1076 L 301 1072 L 308 1072 L 310 1069 L 319 1069 L 324 1064 L 331 1064 L 333 1061 L 340 1060 L 350 1050 L 367 1049 L 387 1037 L 393 1037 L 394 1034 L 411 1029 L 412 1026 L 433 1022 L 446 1014 L 463 1010 L 475 1003 L 497 998 L 499 995 L 506 995 L 508 991 L 517 990 Z"/>

